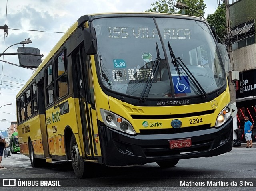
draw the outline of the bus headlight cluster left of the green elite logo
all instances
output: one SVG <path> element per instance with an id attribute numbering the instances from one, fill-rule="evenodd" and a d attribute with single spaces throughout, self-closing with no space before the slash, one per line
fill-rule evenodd
<path id="1" fill-rule="evenodd" d="M 134 128 L 126 119 L 104 109 L 100 109 L 100 114 L 104 124 L 106 124 L 108 127 L 126 132 L 128 134 L 136 134 Z"/>

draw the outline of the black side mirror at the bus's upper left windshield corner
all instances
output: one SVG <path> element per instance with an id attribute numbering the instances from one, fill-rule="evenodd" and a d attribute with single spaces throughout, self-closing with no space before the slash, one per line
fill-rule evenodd
<path id="1" fill-rule="evenodd" d="M 84 48 L 87 55 L 96 54 L 97 49 L 97 38 L 94 27 L 84 28 Z"/>

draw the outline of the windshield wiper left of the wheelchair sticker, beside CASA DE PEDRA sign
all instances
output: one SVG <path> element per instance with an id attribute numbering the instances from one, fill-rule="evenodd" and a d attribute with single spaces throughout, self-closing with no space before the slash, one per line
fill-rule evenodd
<path id="1" fill-rule="evenodd" d="M 150 73 L 150 77 L 149 77 L 147 83 L 145 84 L 144 89 L 142 91 L 142 94 L 140 96 L 140 102 L 141 101 L 143 101 L 143 102 L 146 101 L 146 98 L 149 95 L 149 91 L 150 91 L 150 89 L 152 87 L 152 84 L 153 84 L 153 81 L 154 81 L 154 75 L 155 75 L 156 69 L 159 67 L 159 63 L 160 63 L 160 60 L 161 60 L 157 42 L 156 42 L 156 55 L 157 55 L 157 57 L 156 57 L 156 60 L 154 61 L 154 64 L 152 66 L 152 71 Z"/>

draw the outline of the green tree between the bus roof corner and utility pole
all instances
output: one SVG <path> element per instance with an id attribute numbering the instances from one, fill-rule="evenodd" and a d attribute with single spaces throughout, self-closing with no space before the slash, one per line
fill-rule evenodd
<path id="1" fill-rule="evenodd" d="M 222 41 L 224 41 L 224 35 L 226 34 L 225 4 L 223 3 L 221 6 L 219 6 L 214 13 L 208 14 L 206 19 L 210 25 L 215 27 L 217 35 Z"/>

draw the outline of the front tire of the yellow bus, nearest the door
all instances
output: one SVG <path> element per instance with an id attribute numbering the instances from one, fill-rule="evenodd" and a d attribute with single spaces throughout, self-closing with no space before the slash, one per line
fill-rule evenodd
<path id="1" fill-rule="evenodd" d="M 81 159 L 74 134 L 71 136 L 71 140 L 70 140 L 70 158 L 71 158 L 72 167 L 76 177 L 84 178 L 86 176 L 85 175 L 86 163 L 83 162 Z"/>

